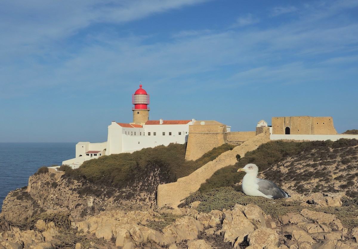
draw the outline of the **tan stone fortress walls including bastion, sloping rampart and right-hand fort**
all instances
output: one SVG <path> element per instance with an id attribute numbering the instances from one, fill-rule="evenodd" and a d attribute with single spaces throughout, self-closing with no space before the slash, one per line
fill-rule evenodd
<path id="1" fill-rule="evenodd" d="M 308 136 L 307 140 L 322 140 L 322 138 L 325 140 L 326 136 L 330 136 L 327 139 L 333 141 L 342 137 L 358 138 L 358 135 L 337 134 L 332 117 L 273 117 L 272 134 L 269 126 L 256 127 L 256 131 L 252 132 L 226 132 L 226 126 L 216 121 L 197 122 L 189 126 L 185 159 L 195 160 L 205 152 L 224 143 L 237 144 L 238 146 L 231 151 L 224 152 L 189 176 L 179 178 L 177 182 L 159 185 L 157 194 L 157 205 L 159 207 L 177 208 L 185 197 L 197 191 L 200 185 L 210 178 L 214 172 L 235 164 L 237 154 L 244 157 L 246 152 L 253 151 L 261 144 L 271 140 L 295 140 L 295 136 Z M 285 134 L 286 127 L 289 128 L 290 134 Z M 278 137 L 274 138 L 274 136 Z"/>

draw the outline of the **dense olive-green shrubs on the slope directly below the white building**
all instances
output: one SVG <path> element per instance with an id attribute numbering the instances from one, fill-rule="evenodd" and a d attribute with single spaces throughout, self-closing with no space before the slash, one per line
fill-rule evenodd
<path id="1" fill-rule="evenodd" d="M 63 165 L 59 170 L 65 172 L 63 177 L 85 178 L 93 183 L 122 187 L 134 181 L 147 168 L 160 168 L 161 178 L 165 182 L 175 182 L 234 147 L 223 144 L 196 161 L 185 161 L 185 146 L 171 143 L 169 146 L 145 148 L 133 153 L 112 154 L 85 161 L 78 169 Z"/>

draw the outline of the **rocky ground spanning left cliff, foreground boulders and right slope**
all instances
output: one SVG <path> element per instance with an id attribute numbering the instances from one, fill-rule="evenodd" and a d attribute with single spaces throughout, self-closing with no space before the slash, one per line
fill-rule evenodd
<path id="1" fill-rule="evenodd" d="M 155 205 L 158 184 L 168 181 L 156 166 L 118 189 L 36 174 L 4 200 L 0 249 L 358 248 L 357 150 L 314 148 L 263 171 L 288 199 L 247 198 L 228 187 L 179 209 Z"/>

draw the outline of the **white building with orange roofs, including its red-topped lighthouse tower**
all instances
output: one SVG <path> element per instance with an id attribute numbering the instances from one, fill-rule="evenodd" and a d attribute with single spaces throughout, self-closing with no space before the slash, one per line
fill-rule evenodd
<path id="1" fill-rule="evenodd" d="M 78 168 L 84 161 L 103 155 L 134 152 L 143 148 L 169 143 L 184 144 L 188 141 L 189 125 L 195 120 L 148 120 L 149 95 L 142 85 L 132 96 L 134 108 L 133 123 L 112 121 L 108 126 L 107 142 L 76 144 L 76 157 L 63 161 L 72 168 Z"/>

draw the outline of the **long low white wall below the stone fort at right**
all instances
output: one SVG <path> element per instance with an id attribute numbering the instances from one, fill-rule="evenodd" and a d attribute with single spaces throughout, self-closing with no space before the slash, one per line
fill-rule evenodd
<path id="1" fill-rule="evenodd" d="M 358 135 L 348 135 L 348 134 L 337 134 L 337 135 L 284 135 L 284 134 L 271 134 L 271 140 L 279 139 L 289 139 L 289 140 L 308 140 L 308 141 L 326 141 L 332 140 L 336 141 L 340 138 L 355 138 L 358 139 Z"/>

